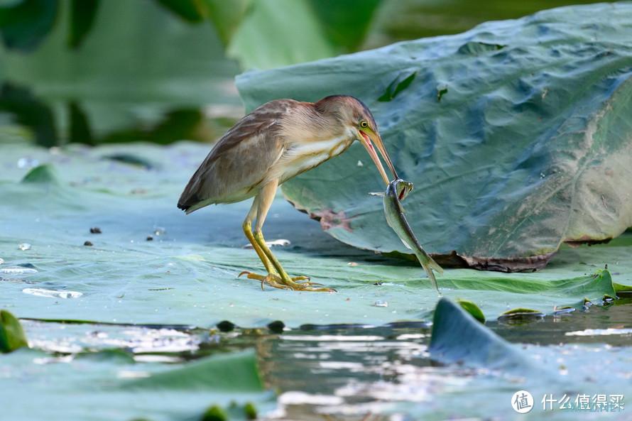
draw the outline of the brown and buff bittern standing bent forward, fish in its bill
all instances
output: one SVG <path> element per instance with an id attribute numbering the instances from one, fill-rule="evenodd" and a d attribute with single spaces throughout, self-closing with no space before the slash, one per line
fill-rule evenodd
<path id="1" fill-rule="evenodd" d="M 334 95 L 318 102 L 268 102 L 217 141 L 189 180 L 178 207 L 190 214 L 209 204 L 254 197 L 243 228 L 268 274 L 242 274 L 275 288 L 329 291 L 317 288 L 319 284 L 311 283 L 307 276 L 290 277 L 263 239 L 261 228 L 279 185 L 346 151 L 356 140 L 369 152 L 386 185 L 388 176 L 374 145 L 398 178 L 373 115 L 359 99 Z"/>

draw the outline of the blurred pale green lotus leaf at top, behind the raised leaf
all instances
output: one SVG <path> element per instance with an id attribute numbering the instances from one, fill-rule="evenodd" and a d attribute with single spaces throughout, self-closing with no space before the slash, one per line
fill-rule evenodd
<path id="1" fill-rule="evenodd" d="M 206 0 L 228 55 L 245 69 L 269 69 L 354 50 L 364 40 L 378 3 L 258 0 L 246 5 Z"/>

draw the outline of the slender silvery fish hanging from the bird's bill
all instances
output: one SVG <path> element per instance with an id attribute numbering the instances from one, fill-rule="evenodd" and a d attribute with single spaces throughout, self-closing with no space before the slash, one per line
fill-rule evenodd
<path id="1" fill-rule="evenodd" d="M 435 288 L 439 295 L 441 295 L 439 286 L 437 285 L 437 279 L 435 278 L 435 273 L 433 273 L 432 270 L 436 270 L 437 273 L 442 274 L 443 268 L 439 266 L 439 264 L 425 252 L 421 244 L 419 244 L 413 229 L 411 229 L 408 224 L 408 220 L 405 217 L 405 210 L 401 203 L 412 190 L 412 182 L 396 178 L 388 184 L 386 192 L 379 194 L 371 193 L 371 195 L 383 196 L 386 223 L 391 227 L 391 229 L 393 229 L 393 231 L 395 231 L 395 234 L 397 234 L 399 239 L 401 239 L 404 246 L 415 253 L 421 267 L 425 270 L 425 273 L 427 273 L 430 283 L 432 283 L 432 287 Z"/>

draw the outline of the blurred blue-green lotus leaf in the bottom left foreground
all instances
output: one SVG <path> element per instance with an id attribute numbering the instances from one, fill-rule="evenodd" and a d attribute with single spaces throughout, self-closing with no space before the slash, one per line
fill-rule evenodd
<path id="1" fill-rule="evenodd" d="M 273 395 L 253 382 L 256 373 L 225 376 L 227 369 L 238 375 L 251 371 L 255 359 L 254 352 L 246 351 L 193 363 L 129 363 L 112 356 L 55 361 L 42 351 L 20 350 L 0 359 L 2 419 L 200 420 L 210 405 L 227 408 L 233 402 L 254 403 L 268 412 L 275 405 Z M 197 370 L 193 381 L 190 368 Z M 221 380 L 214 378 L 218 373 Z M 172 383 L 165 383 L 167 378 Z M 222 380 L 231 387 L 224 390 Z M 37 396 L 38 404 L 29 405 L 25 396 Z M 245 420 L 245 413 L 233 419 Z"/>

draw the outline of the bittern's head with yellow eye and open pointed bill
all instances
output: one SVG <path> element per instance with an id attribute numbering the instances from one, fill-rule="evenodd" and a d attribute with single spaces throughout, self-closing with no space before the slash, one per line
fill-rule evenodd
<path id="1" fill-rule="evenodd" d="M 371 156 L 386 185 L 388 185 L 389 182 L 388 175 L 386 175 L 386 171 L 384 171 L 380 158 L 376 153 L 376 148 L 382 155 L 386 165 L 388 165 L 388 169 L 393 173 L 393 177 L 399 178 L 391 161 L 391 157 L 388 155 L 388 152 L 386 152 L 386 148 L 384 148 L 384 143 L 378 131 L 375 119 L 373 118 L 373 114 L 371 114 L 371 111 L 363 102 L 347 95 L 334 95 L 321 99 L 315 105 L 317 109 L 336 116 L 339 124 L 344 126 L 347 133 L 352 133 L 352 135 L 362 143 L 362 146 L 366 148 L 369 156 Z"/>

